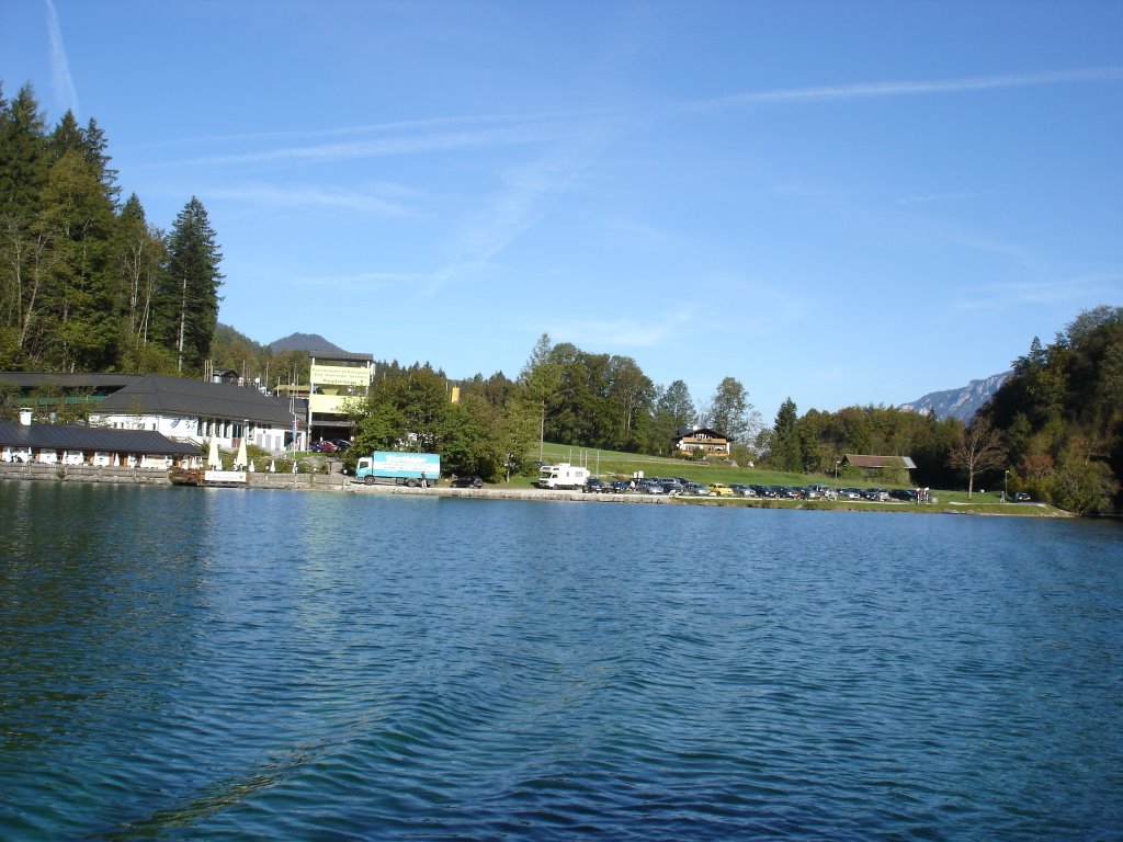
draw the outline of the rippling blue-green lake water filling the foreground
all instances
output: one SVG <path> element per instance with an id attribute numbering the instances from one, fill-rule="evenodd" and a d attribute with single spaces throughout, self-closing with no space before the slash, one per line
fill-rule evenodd
<path id="1" fill-rule="evenodd" d="M 0 483 L 3 840 L 1123 838 L 1123 528 Z"/>

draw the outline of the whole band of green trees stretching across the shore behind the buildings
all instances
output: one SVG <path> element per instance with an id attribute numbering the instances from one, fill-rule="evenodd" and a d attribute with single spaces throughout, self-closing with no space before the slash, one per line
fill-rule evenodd
<path id="1" fill-rule="evenodd" d="M 222 255 L 198 198 L 164 231 L 135 193 L 120 201 L 110 163 L 95 120 L 67 111 L 48 128 L 30 85 L 10 101 L 0 86 L 0 370 L 192 376 L 210 361 L 266 386 L 307 383 L 307 353 L 273 354 L 218 323 Z M 546 335 L 513 379 L 449 382 L 396 360 L 376 370 L 351 408 L 359 449 L 438 449 L 457 473 L 489 479 L 532 467 L 536 442 L 667 456 L 679 430 L 701 424 L 729 436 L 742 465 L 832 475 L 846 454 L 911 456 L 917 468 L 902 483 L 970 489 L 1001 477 L 1081 513 L 1121 503 L 1120 308 L 1083 313 L 1049 346 L 1034 339 L 966 425 L 886 406 L 800 415 L 791 399 L 768 425 L 734 377 L 695 403 L 683 381 L 656 384 L 631 357 Z"/>

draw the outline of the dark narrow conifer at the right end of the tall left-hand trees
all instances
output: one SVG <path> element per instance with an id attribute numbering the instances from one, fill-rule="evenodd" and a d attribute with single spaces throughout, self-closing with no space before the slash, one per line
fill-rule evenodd
<path id="1" fill-rule="evenodd" d="M 223 277 L 214 229 L 198 198 L 192 196 L 175 218 L 167 250 L 158 327 L 164 342 L 175 349 L 177 369 L 198 370 L 210 356 Z"/>

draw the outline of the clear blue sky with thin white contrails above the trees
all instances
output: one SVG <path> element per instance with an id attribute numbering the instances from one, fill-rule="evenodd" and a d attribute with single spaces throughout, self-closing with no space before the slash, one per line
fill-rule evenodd
<path id="1" fill-rule="evenodd" d="M 198 195 L 220 320 L 515 376 L 548 332 L 768 421 L 1123 304 L 1123 3 L 4 0 L 0 79 Z"/>

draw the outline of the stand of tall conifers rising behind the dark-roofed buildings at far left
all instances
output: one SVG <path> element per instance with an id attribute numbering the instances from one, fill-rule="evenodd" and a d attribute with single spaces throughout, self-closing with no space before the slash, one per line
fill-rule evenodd
<path id="1" fill-rule="evenodd" d="M 0 370 L 190 374 L 208 359 L 222 256 L 192 198 L 165 232 L 122 203 L 97 121 L 46 126 L 0 88 Z"/>

